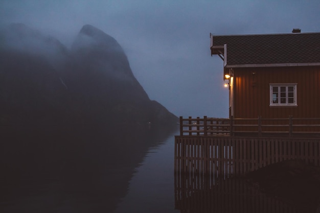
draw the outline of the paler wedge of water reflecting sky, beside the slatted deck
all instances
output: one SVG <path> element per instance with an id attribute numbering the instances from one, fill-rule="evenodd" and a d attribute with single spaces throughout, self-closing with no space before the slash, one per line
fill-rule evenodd
<path id="1" fill-rule="evenodd" d="M 150 148 L 114 213 L 180 212 L 174 209 L 174 135 Z"/>

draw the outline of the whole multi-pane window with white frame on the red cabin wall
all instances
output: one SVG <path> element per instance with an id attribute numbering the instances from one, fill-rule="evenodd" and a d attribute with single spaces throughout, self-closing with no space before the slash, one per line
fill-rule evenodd
<path id="1" fill-rule="evenodd" d="M 270 106 L 297 106 L 296 84 L 270 84 Z"/>

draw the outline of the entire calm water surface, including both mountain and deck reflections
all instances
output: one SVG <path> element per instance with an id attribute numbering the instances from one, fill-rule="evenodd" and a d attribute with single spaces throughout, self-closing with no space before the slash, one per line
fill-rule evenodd
<path id="1" fill-rule="evenodd" d="M 58 132 L 1 135 L 0 212 L 316 212 L 306 195 L 175 174 L 177 131 Z"/>

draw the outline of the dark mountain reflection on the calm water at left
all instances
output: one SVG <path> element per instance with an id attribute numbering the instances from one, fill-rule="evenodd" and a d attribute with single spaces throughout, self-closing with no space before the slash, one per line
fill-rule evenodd
<path id="1" fill-rule="evenodd" d="M 2 131 L 0 212 L 112 212 L 148 148 L 170 131 Z"/>

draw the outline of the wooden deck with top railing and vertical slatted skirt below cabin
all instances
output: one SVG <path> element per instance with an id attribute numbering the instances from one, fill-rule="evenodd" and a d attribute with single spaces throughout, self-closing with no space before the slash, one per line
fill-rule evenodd
<path id="1" fill-rule="evenodd" d="M 320 119 L 180 117 L 175 171 L 243 176 L 269 164 L 303 159 L 320 165 Z"/>

